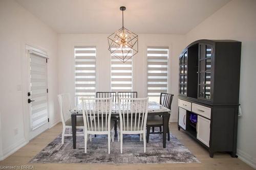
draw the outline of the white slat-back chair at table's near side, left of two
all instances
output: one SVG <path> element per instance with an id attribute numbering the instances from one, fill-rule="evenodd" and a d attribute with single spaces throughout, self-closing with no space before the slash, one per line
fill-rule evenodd
<path id="1" fill-rule="evenodd" d="M 108 135 L 110 154 L 111 138 L 114 141 L 115 122 L 111 121 L 112 98 L 82 98 L 84 122 L 84 152 L 87 153 L 88 135 Z"/>

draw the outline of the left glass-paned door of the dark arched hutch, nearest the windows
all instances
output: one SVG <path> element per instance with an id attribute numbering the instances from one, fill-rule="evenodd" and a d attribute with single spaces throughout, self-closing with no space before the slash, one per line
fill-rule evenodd
<path id="1" fill-rule="evenodd" d="M 179 59 L 179 75 L 180 75 L 180 90 L 179 93 L 182 95 L 187 95 L 187 52 L 184 52 Z"/>

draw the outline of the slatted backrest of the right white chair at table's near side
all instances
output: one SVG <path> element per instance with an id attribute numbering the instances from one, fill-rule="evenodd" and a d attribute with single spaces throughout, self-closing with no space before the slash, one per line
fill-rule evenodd
<path id="1" fill-rule="evenodd" d="M 123 131 L 145 130 L 148 98 L 119 98 L 118 107 Z"/>

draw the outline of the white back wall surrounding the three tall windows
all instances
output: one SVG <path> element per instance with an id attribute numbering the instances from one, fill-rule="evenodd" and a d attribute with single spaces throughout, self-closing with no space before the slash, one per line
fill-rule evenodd
<path id="1" fill-rule="evenodd" d="M 58 36 L 58 82 L 59 93 L 75 94 L 74 85 L 74 45 L 96 45 L 97 91 L 110 91 L 110 52 L 107 34 L 59 34 Z M 133 90 L 138 96 L 146 96 L 147 89 L 147 46 L 169 47 L 169 89 L 175 94 L 170 120 L 177 122 L 178 117 L 178 56 L 184 48 L 184 35 L 139 35 L 139 53 L 133 57 Z M 73 100 L 74 106 L 74 100 Z"/>

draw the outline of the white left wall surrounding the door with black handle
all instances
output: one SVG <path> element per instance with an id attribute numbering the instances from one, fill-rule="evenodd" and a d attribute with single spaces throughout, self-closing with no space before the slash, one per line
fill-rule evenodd
<path id="1" fill-rule="evenodd" d="M 46 50 L 49 55 L 50 126 L 59 122 L 57 103 L 57 34 L 15 1 L 0 1 L 0 159 L 28 142 L 28 107 L 23 77 L 25 44 Z M 22 89 L 17 90 L 20 86 Z M 18 133 L 15 135 L 14 130 Z M 2 152 L 1 152 L 2 150 Z"/>

